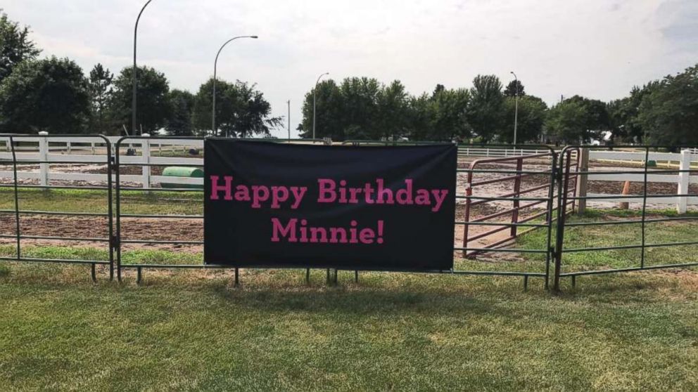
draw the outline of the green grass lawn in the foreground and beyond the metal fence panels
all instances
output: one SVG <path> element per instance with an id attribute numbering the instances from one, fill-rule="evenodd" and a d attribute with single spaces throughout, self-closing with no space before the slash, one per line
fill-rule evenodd
<path id="1" fill-rule="evenodd" d="M 22 194 L 23 209 L 106 212 L 99 193 Z M 0 209 L 13 202 L 0 192 Z M 201 194 L 132 197 L 134 214 L 201 214 Z M 654 211 L 653 214 L 670 214 Z M 572 221 L 636 218 L 590 211 Z M 698 221 L 652 223 L 648 242 L 694 239 Z M 639 226 L 638 226 L 639 227 Z M 635 226 L 580 227 L 575 247 L 630 244 Z M 516 247 L 545 247 L 543 230 Z M 660 248 L 658 248 L 660 249 Z M 652 249 L 648 263 L 698 259 Z M 13 254 L 12 244 L 0 255 Z M 614 253 L 615 252 L 615 253 Z M 27 245 L 27 257 L 106 259 L 106 249 Z M 535 254 L 458 260 L 461 269 L 541 270 Z M 565 270 L 631 266 L 637 251 L 566 254 Z M 201 263 L 136 249 L 123 263 Z M 541 279 L 324 270 L 134 270 L 121 284 L 88 266 L 0 263 L 0 391 L 9 390 L 675 390 L 698 389 L 698 270 Z"/>

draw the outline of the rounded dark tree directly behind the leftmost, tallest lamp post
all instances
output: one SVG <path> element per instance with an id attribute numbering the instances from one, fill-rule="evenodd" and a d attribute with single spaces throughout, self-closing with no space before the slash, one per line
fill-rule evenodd
<path id="1" fill-rule="evenodd" d="M 124 68 L 114 79 L 111 115 L 127 129 L 131 128 L 132 117 L 132 68 Z M 137 118 L 138 129 L 130 130 L 131 135 L 154 133 L 163 128 L 170 118 L 170 84 L 165 74 L 151 67 L 137 68 Z"/>

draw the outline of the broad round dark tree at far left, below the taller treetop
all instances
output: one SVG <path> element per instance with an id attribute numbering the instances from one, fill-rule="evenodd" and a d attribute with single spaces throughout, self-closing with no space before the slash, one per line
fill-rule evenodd
<path id="1" fill-rule="evenodd" d="M 0 84 L 3 132 L 80 133 L 89 107 L 87 79 L 67 58 L 24 61 Z"/>

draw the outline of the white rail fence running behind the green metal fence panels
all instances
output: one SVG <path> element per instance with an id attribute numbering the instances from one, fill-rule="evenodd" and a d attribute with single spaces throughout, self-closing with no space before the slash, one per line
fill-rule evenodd
<path id="1" fill-rule="evenodd" d="M 113 147 L 119 137 L 108 137 Z M 65 166 L 59 166 L 61 162 L 80 162 L 85 165 L 106 166 L 107 151 L 106 145 L 101 138 L 95 137 L 51 137 L 42 136 L 22 136 L 13 138 L 14 141 L 21 142 L 21 148 L 15 148 L 18 162 L 20 165 L 18 178 L 20 180 L 39 180 L 41 185 L 49 185 L 50 181 L 106 181 L 105 174 L 89 174 L 89 173 L 67 173 Z M 26 145 L 27 143 L 31 145 Z M 3 145 L 4 144 L 4 145 Z M 120 154 L 120 162 L 122 165 L 133 164 L 162 164 L 163 166 L 177 165 L 202 165 L 203 158 L 201 157 L 164 157 L 167 152 L 184 152 L 189 148 L 203 149 L 203 141 L 194 139 L 139 139 L 137 137 L 127 140 L 124 148 L 132 147 L 139 150 L 141 155 L 127 156 L 123 152 Z M 5 152 L 1 152 L 5 150 Z M 11 147 L 8 138 L 0 138 L 0 178 L 13 178 L 11 170 Z M 153 156 L 153 152 L 158 152 Z M 459 148 L 460 157 L 512 157 L 519 155 L 533 155 L 549 152 L 548 150 L 535 149 L 505 149 L 505 148 Z M 113 152 L 112 152 L 113 154 Z M 605 159 L 611 161 L 622 162 L 637 162 L 645 161 L 645 152 L 626 152 L 626 151 L 606 151 L 606 150 L 590 150 L 590 159 Z M 690 169 L 691 162 L 698 161 L 698 154 L 692 150 L 684 150 L 681 153 L 668 152 L 650 152 L 649 160 L 660 162 L 678 162 L 678 169 Z M 49 164 L 37 163 L 32 165 L 32 168 L 27 168 L 25 164 L 34 162 L 50 162 Z M 72 165 L 72 164 L 71 164 Z M 37 168 L 38 166 L 38 168 Z M 51 166 L 54 166 L 53 169 Z M 63 171 L 61 171 L 63 170 Z M 618 168 L 618 171 L 630 171 L 627 167 Z M 652 169 L 650 169 L 652 170 Z M 592 174 L 588 176 L 588 181 L 644 181 L 644 170 L 637 169 L 637 174 Z M 122 174 L 121 181 L 126 183 L 139 183 L 144 188 L 150 188 L 157 183 L 173 183 L 180 185 L 202 185 L 203 178 L 188 178 L 188 177 L 170 177 L 170 176 L 151 176 L 151 167 L 142 166 L 141 174 Z M 690 173 L 677 174 L 649 174 L 647 181 L 650 183 L 672 183 L 677 184 L 677 195 L 685 195 L 689 192 L 689 185 L 698 183 L 698 176 L 691 176 Z M 589 194 L 595 197 L 607 198 L 598 199 L 597 201 L 617 202 L 618 194 Z M 630 200 L 632 202 L 632 200 Z M 649 204 L 673 204 L 680 213 L 686 211 L 689 205 L 698 205 L 698 197 L 649 197 Z"/>

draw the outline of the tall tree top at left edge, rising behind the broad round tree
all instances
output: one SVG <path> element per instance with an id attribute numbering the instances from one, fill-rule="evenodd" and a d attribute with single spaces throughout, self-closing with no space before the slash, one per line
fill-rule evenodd
<path id="1" fill-rule="evenodd" d="M 34 60 L 41 53 L 29 39 L 29 33 L 29 27 L 20 27 L 6 13 L 0 13 L 0 84 L 18 64 Z"/>

